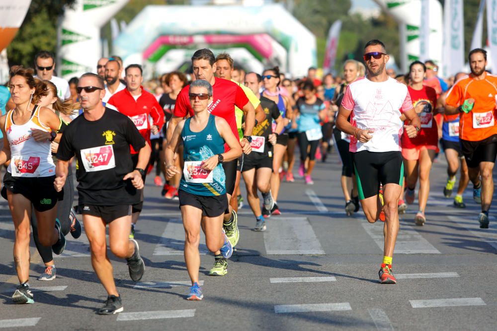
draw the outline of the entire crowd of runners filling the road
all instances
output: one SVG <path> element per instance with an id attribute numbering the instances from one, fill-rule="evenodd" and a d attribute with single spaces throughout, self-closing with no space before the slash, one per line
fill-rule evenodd
<path id="1" fill-rule="evenodd" d="M 450 198 L 456 190 L 454 207 L 465 208 L 463 193 L 471 181 L 473 199 L 481 204 L 475 222 L 488 228 L 497 78 L 485 70 L 486 52 L 472 50 L 471 72 L 447 81 L 432 61 L 414 61 L 400 75 L 386 68 L 388 61 L 385 45 L 371 40 L 363 63 L 347 60 L 342 76 L 328 73 L 323 80 L 314 67 L 300 79 L 278 67 L 245 72 L 229 54 L 216 57 L 208 49 L 194 53 L 192 73 L 173 71 L 146 82 L 140 65 L 124 67 L 118 56 L 101 58 L 96 73 L 69 82 L 54 74 L 50 52 L 36 55 L 34 69 L 12 66 L 7 86 L 0 88 L 0 164 L 6 167 L 1 195 L 15 227 L 19 286 L 13 301 L 34 302 L 28 283 L 31 226 L 45 264 L 38 279 L 53 280 L 52 253 L 64 251 L 69 233 L 80 237 L 81 214 L 91 264 L 108 295 L 98 313 L 123 311 L 106 227 L 110 251 L 126 259 L 132 280 L 140 280 L 145 264 L 135 230 L 150 173 L 165 201 L 181 210 L 192 283 L 187 300 L 203 298 L 201 230 L 214 256 L 209 275 L 228 272 L 227 260 L 241 239 L 241 179 L 253 230 L 266 231 L 268 217 L 284 217 L 277 204 L 281 183 L 313 185 L 317 160 L 327 162 L 333 147 L 342 166 L 345 214 L 362 208 L 368 222 L 385 222 L 381 283 L 396 283 L 392 260 L 399 214 L 412 205 L 413 222 L 429 224 L 430 170 L 442 153 L 443 195 Z"/>

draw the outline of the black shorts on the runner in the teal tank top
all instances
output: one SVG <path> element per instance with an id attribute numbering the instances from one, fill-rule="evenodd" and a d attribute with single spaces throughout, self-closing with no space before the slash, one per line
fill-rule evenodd
<path id="1" fill-rule="evenodd" d="M 184 205 L 193 206 L 201 209 L 202 215 L 207 217 L 217 217 L 229 213 L 226 194 L 220 196 L 197 196 L 179 189 L 178 198 L 180 209 Z"/>

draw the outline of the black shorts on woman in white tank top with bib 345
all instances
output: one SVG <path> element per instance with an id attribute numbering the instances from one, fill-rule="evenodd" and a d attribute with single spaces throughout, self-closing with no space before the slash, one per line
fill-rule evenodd
<path id="1" fill-rule="evenodd" d="M 3 176 L 2 197 L 7 199 L 8 190 L 21 194 L 31 201 L 37 211 L 47 211 L 55 207 L 58 200 L 64 198 L 64 190 L 57 192 L 54 188 L 55 176 L 48 177 L 13 177 L 8 171 Z"/>

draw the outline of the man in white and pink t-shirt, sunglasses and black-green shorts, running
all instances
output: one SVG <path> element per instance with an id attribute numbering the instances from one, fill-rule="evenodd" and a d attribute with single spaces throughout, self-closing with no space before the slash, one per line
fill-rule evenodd
<path id="1" fill-rule="evenodd" d="M 352 135 L 349 150 L 359 199 L 368 222 L 376 222 L 384 210 L 385 218 L 381 219 L 385 220 L 385 248 L 379 276 L 382 284 L 395 284 L 392 257 L 399 232 L 397 203 L 404 178 L 400 137 L 404 130 L 409 137 L 415 137 L 421 124 L 406 85 L 387 75 L 385 64 L 389 56 L 386 53 L 385 45 L 379 40 L 366 44 L 364 63 L 368 74 L 348 85 L 336 127 Z M 402 115 L 411 125 L 403 126 Z M 350 123 L 347 122 L 349 116 Z M 380 185 L 383 185 L 383 194 L 379 191 Z"/>

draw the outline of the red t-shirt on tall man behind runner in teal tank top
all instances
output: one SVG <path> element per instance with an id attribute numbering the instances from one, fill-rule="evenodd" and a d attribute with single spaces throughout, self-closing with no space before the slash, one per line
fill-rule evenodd
<path id="1" fill-rule="evenodd" d="M 230 125 L 231 131 L 238 138 L 237 120 L 235 118 L 235 106 L 243 109 L 248 104 L 247 95 L 237 84 L 228 79 L 215 77 L 216 82 L 212 85 L 213 101 L 207 106 L 209 113 L 222 117 Z M 190 85 L 186 85 L 179 92 L 174 106 L 174 116 L 185 117 L 186 114 L 193 116 L 193 109 L 190 105 L 188 90 Z M 226 147 L 226 146 L 225 146 Z"/>

